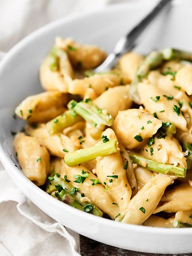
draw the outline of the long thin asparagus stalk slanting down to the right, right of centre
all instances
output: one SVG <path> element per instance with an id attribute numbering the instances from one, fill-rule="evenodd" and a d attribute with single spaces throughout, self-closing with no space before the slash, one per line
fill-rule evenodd
<path id="1" fill-rule="evenodd" d="M 147 163 L 147 166 L 145 168 L 147 168 L 148 170 L 166 175 L 185 178 L 186 169 L 184 167 L 174 166 L 173 164 L 157 163 L 151 159 L 148 159 L 140 155 L 130 154 L 129 156 L 132 162 L 134 164 L 138 164 L 139 166 L 142 166 L 142 162 L 145 161 Z"/>

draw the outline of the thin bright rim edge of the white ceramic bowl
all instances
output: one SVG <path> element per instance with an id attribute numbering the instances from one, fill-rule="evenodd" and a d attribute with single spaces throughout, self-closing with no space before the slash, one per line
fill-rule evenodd
<path id="1" fill-rule="evenodd" d="M 18 50 L 22 50 L 22 47 L 27 45 L 28 42 L 34 40 L 36 37 L 39 35 L 42 35 L 44 33 L 47 33 L 49 30 L 52 30 L 53 28 L 59 26 L 59 25 L 64 25 L 67 22 L 70 22 L 72 20 L 78 20 L 80 18 L 83 18 L 84 16 L 91 16 L 93 14 L 97 14 L 98 12 L 100 13 L 105 13 L 105 12 L 111 12 L 113 10 L 119 10 L 124 7 L 126 8 L 142 8 L 142 6 L 138 6 L 138 3 L 143 4 L 144 6 L 146 5 L 151 5 L 148 1 L 145 2 L 143 0 L 139 0 L 137 2 L 131 2 L 131 3 L 121 3 L 121 4 L 113 4 L 113 5 L 107 5 L 104 6 L 100 10 L 96 11 L 89 11 L 89 12 L 83 12 L 79 14 L 71 14 L 70 16 L 68 15 L 67 17 L 60 18 L 58 20 L 54 20 L 46 25 L 44 25 L 41 28 L 36 29 L 34 32 L 30 33 L 28 36 L 24 37 L 20 42 L 15 44 L 11 50 L 9 50 L 3 59 L 0 61 L 0 73 L 3 71 L 3 69 L 6 67 L 7 64 L 9 64 L 9 61 L 14 57 L 14 55 L 17 54 Z M 41 188 L 37 187 L 32 181 L 30 181 L 16 166 L 14 166 L 12 160 L 9 158 L 9 156 L 6 154 L 4 151 L 2 143 L 0 143 L 0 160 L 3 163 L 4 166 L 8 166 L 10 172 L 14 172 L 14 175 L 20 179 L 21 181 L 25 182 L 26 185 L 30 188 L 31 191 L 34 191 L 36 193 L 39 193 L 39 196 L 41 198 L 45 198 L 50 201 L 50 203 L 54 206 L 56 205 L 59 207 L 62 211 L 68 211 L 72 214 L 75 214 L 78 216 L 78 218 L 84 219 L 89 219 L 91 221 L 96 221 L 100 225 L 105 225 L 105 226 L 110 226 L 111 228 L 117 228 L 120 230 L 129 230 L 129 231 L 135 231 L 135 232 L 140 232 L 141 234 L 145 234 L 146 232 L 151 235 L 155 234 L 165 234 L 166 235 L 176 235 L 180 236 L 182 234 L 188 235 L 192 234 L 192 229 L 190 228 L 157 228 L 157 227 L 148 227 L 148 226 L 142 226 L 142 225 L 134 225 L 134 224 L 127 224 L 127 223 L 121 223 L 121 222 L 116 222 L 116 221 L 111 221 L 105 218 L 100 218 L 98 216 L 94 216 L 92 214 L 87 214 L 86 212 L 79 211 L 78 209 L 75 209 L 67 204 L 64 204 L 58 200 L 55 200 L 52 196 L 48 195 L 45 191 L 43 191 Z M 70 228 L 70 227 L 69 227 Z"/>

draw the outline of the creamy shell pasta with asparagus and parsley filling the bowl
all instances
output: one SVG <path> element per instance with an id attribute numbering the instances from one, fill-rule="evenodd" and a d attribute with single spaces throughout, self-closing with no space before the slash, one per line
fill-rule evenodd
<path id="1" fill-rule="evenodd" d="M 15 109 L 23 173 L 55 199 L 123 223 L 191 227 L 192 54 L 172 48 L 106 58 L 57 37 L 40 67 L 45 92 Z M 188 217 L 187 217 L 188 216 Z"/>

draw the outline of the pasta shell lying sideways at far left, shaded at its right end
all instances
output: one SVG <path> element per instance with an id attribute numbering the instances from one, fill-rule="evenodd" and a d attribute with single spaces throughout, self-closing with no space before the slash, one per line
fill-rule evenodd
<path id="1" fill-rule="evenodd" d="M 68 95 L 61 92 L 43 92 L 23 100 L 15 113 L 30 123 L 46 122 L 65 112 Z"/>

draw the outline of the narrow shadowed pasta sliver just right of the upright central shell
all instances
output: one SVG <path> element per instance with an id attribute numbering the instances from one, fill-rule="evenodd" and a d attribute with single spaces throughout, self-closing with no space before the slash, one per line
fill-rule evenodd
<path id="1" fill-rule="evenodd" d="M 126 176 L 127 176 L 129 185 L 131 186 L 131 189 L 132 189 L 132 196 L 134 196 L 138 192 L 138 187 L 137 187 L 137 180 L 135 178 L 135 173 L 133 170 L 132 160 L 129 157 L 129 154 L 126 151 L 126 149 L 123 147 L 123 145 L 119 144 L 119 148 L 120 148 L 120 153 L 123 160 L 123 166 L 125 166 L 124 167 L 125 169 L 127 166 Z"/>

